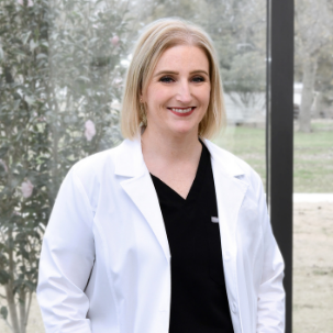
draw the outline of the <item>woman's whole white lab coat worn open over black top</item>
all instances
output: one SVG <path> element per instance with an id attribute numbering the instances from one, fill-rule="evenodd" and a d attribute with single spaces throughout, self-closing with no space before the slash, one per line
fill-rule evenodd
<path id="1" fill-rule="evenodd" d="M 281 333 L 284 262 L 260 179 L 237 157 L 204 144 L 234 332 Z M 43 241 L 37 298 L 46 332 L 168 333 L 170 288 L 170 251 L 140 141 L 77 163 Z"/>

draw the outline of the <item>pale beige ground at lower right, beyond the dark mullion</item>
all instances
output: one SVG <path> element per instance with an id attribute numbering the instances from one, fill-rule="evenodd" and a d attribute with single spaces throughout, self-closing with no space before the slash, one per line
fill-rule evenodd
<path id="1" fill-rule="evenodd" d="M 332 254 L 332 201 L 295 202 L 292 333 L 333 333 Z"/>

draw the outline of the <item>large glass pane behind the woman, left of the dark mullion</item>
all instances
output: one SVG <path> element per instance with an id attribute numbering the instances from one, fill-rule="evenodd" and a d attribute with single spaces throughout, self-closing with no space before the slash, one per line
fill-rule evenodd
<path id="1" fill-rule="evenodd" d="M 219 52 L 227 126 L 214 142 L 265 181 L 266 1 L 0 3 L 0 295 L 15 299 L 19 318 L 29 314 L 27 333 L 44 332 L 34 290 L 59 185 L 75 162 L 120 143 L 133 42 L 174 15 L 206 29 Z M 3 298 L 0 314 L 1 332 L 11 332 L 5 321 L 19 325 Z"/>

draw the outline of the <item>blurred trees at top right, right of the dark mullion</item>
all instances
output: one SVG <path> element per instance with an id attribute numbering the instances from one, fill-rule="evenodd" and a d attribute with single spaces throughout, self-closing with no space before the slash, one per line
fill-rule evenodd
<path id="1" fill-rule="evenodd" d="M 300 131 L 311 132 L 311 118 L 325 115 L 333 101 L 332 1 L 296 0 L 295 25 L 295 74 L 302 81 Z"/>

